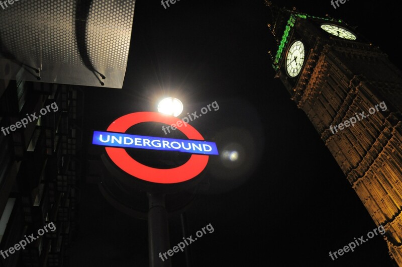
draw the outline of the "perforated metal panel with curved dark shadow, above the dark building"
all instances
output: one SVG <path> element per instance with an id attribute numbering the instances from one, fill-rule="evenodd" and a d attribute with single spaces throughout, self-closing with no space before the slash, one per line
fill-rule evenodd
<path id="1" fill-rule="evenodd" d="M 0 78 L 10 66 L 15 79 L 23 67 L 24 80 L 122 88 L 134 5 L 19 0 L 0 7 Z"/>

